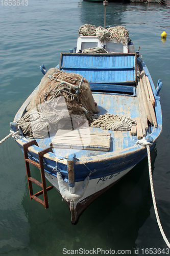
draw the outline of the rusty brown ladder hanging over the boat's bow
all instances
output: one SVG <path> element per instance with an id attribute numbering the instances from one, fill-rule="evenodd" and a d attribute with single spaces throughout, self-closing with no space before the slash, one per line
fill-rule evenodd
<path id="1" fill-rule="evenodd" d="M 26 163 L 26 172 L 27 172 L 27 180 L 28 180 L 28 186 L 29 186 L 29 193 L 30 193 L 30 199 L 34 199 L 40 204 L 45 206 L 45 209 L 48 208 L 48 198 L 47 198 L 47 191 L 52 189 L 53 186 L 46 187 L 46 182 L 45 182 L 45 173 L 44 173 L 44 164 L 43 164 L 43 155 L 48 153 L 48 152 L 53 152 L 51 147 L 47 147 L 42 151 L 38 152 L 38 158 L 39 158 L 39 163 L 31 160 L 28 158 L 28 148 L 31 145 L 36 145 L 38 146 L 36 140 L 31 140 L 25 144 L 23 144 L 23 154 L 25 158 L 25 163 Z M 35 165 L 40 169 L 40 174 L 41 174 L 41 182 L 38 180 L 34 179 L 31 177 L 30 173 L 30 163 Z M 38 186 L 42 187 L 42 190 L 39 191 L 38 193 L 34 194 L 33 193 L 33 187 L 32 187 L 32 182 L 37 184 Z M 38 196 L 43 194 L 44 201 L 39 199 Z"/>

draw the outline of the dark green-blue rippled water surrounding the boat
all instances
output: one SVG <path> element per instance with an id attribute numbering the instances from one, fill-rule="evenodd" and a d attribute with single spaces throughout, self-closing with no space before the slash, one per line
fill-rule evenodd
<path id="1" fill-rule="evenodd" d="M 154 83 L 162 79 L 163 132 L 151 158 L 158 212 L 170 240 L 169 14 L 169 3 L 109 2 L 106 26 L 126 26 Z M 102 2 L 28 0 L 27 6 L 0 2 L 0 139 L 9 134 L 9 123 L 42 78 L 39 66 L 55 67 L 60 52 L 76 46 L 78 29 L 85 23 L 104 26 Z M 63 255 L 63 248 L 130 249 L 131 255 L 135 248 L 138 255 L 145 255 L 142 248 L 167 248 L 154 214 L 147 158 L 95 200 L 77 225 L 71 225 L 69 209 L 55 189 L 48 192 L 47 210 L 30 200 L 23 154 L 12 138 L 0 145 L 0 161 L 1 255 Z M 37 168 L 32 167 L 32 173 L 38 177 Z"/>

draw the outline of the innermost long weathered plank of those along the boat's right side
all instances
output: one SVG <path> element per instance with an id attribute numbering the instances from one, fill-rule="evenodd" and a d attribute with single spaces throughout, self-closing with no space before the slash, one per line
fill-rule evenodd
<path id="1" fill-rule="evenodd" d="M 137 90 L 138 90 L 138 98 L 139 98 L 139 112 L 140 112 L 142 131 L 143 131 L 143 136 L 145 136 L 146 131 L 148 131 L 148 119 L 147 119 L 147 115 L 146 115 L 145 109 L 144 109 L 144 103 L 143 103 L 143 99 L 142 99 L 141 87 L 140 87 L 139 80 L 138 80 Z"/>

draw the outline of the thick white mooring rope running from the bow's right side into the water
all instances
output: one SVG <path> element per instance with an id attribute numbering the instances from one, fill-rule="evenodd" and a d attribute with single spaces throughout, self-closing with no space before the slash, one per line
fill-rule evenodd
<path id="1" fill-rule="evenodd" d="M 148 153 L 148 166 L 149 166 L 149 177 L 150 177 L 150 184 L 151 184 L 151 193 L 152 193 L 152 200 L 153 200 L 153 205 L 154 205 L 154 210 L 155 210 L 155 215 L 156 215 L 156 220 L 160 229 L 160 232 L 162 234 L 163 240 L 165 241 L 166 245 L 170 248 L 170 243 L 168 242 L 165 233 L 163 231 L 160 218 L 158 215 L 158 209 L 156 206 L 156 200 L 155 200 L 155 193 L 154 193 L 154 186 L 153 186 L 153 179 L 152 179 L 152 165 L 151 165 L 151 152 L 150 152 L 150 146 L 152 143 L 148 142 L 145 137 L 143 137 L 141 140 L 138 140 L 136 145 L 140 144 L 142 146 L 145 146 L 147 148 L 147 153 Z"/>

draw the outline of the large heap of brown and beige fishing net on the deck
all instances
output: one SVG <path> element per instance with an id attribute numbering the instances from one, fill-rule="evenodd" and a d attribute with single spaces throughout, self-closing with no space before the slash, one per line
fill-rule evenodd
<path id="1" fill-rule="evenodd" d="M 53 68 L 41 79 L 18 126 L 29 137 L 45 138 L 58 129 L 76 130 L 97 112 L 87 79 Z"/>

